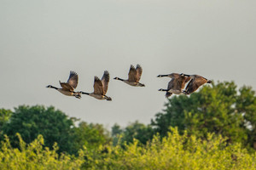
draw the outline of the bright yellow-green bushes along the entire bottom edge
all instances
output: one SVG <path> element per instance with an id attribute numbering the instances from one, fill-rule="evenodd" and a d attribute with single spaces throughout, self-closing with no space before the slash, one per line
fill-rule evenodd
<path id="1" fill-rule="evenodd" d="M 79 150 L 79 156 L 58 154 L 57 144 L 53 149 L 44 147 L 44 138 L 26 144 L 18 134 L 20 149 L 13 148 L 5 136 L 0 149 L 0 169 L 232 169 L 256 168 L 256 153 L 248 154 L 241 144 L 227 144 L 221 136 L 207 134 L 207 139 L 180 135 L 172 128 L 167 136 L 155 135 L 146 145 L 133 143 L 116 146 L 99 146 L 91 150 Z"/>

